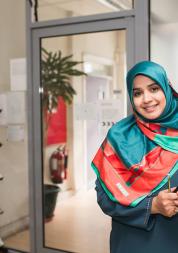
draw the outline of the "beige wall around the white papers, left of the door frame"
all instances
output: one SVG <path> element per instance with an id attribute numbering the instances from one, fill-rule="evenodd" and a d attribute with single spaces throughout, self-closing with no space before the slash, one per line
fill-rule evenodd
<path id="1" fill-rule="evenodd" d="M 10 91 L 10 59 L 24 58 L 25 1 L 3 0 L 0 8 L 0 93 Z M 24 226 L 28 216 L 27 131 L 21 142 L 7 141 L 7 126 L 0 126 L 0 236 Z M 22 221 L 20 221 L 22 220 Z M 13 224 L 13 225 L 12 225 Z"/>

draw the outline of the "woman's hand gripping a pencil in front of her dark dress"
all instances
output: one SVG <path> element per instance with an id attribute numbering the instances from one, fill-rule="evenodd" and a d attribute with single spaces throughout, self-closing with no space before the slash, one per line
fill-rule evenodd
<path id="1" fill-rule="evenodd" d="M 151 213 L 162 214 L 166 217 L 172 217 L 178 213 L 178 193 L 172 192 L 174 188 L 171 188 L 171 192 L 163 190 L 153 198 Z"/>

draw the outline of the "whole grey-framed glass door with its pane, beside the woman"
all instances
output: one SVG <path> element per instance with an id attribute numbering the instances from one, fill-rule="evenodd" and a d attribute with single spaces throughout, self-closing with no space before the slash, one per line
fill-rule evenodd
<path id="1" fill-rule="evenodd" d="M 133 18 L 64 24 L 32 33 L 33 237 L 37 253 L 109 253 L 91 159 L 128 112 Z"/>

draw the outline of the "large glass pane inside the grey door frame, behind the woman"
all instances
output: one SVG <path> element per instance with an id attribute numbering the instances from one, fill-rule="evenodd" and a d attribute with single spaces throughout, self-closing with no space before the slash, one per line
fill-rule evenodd
<path id="1" fill-rule="evenodd" d="M 108 253 L 111 220 L 97 205 L 90 163 L 126 116 L 126 31 L 44 38 L 41 46 L 44 246 Z"/>

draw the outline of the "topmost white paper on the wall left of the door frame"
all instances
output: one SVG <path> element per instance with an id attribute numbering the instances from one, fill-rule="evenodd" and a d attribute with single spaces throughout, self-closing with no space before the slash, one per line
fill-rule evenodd
<path id="1" fill-rule="evenodd" d="M 10 84 L 12 91 L 25 91 L 27 89 L 25 58 L 10 60 Z"/>

